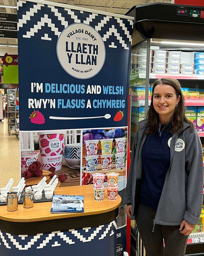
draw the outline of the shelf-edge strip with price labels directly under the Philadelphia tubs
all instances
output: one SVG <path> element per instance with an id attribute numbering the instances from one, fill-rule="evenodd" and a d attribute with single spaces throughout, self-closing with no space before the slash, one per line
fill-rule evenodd
<path id="1" fill-rule="evenodd" d="M 204 75 L 185 75 L 185 74 L 155 74 L 150 73 L 149 78 L 150 79 L 161 79 L 163 77 L 170 77 L 175 79 L 184 79 L 184 80 L 204 80 Z M 139 73 L 139 78 L 146 78 L 146 73 Z"/>

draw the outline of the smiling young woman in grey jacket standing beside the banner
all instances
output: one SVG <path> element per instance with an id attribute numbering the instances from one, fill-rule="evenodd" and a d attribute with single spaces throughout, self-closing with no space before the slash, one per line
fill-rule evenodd
<path id="1" fill-rule="evenodd" d="M 124 203 L 148 256 L 184 256 L 203 201 L 202 145 L 179 81 L 155 81 L 135 135 Z"/>

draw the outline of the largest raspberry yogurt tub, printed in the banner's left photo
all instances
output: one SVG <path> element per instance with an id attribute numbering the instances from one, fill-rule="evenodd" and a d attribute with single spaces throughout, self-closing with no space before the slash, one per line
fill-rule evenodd
<path id="1" fill-rule="evenodd" d="M 56 170 L 60 170 L 62 168 L 64 134 L 66 134 L 66 131 L 52 132 L 53 133 L 37 133 L 40 141 L 42 168 L 49 170 L 50 167 L 55 167 Z"/>

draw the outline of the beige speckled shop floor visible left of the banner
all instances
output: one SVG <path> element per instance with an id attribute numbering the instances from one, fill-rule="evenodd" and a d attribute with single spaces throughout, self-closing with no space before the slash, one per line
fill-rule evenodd
<path id="1" fill-rule="evenodd" d="M 0 122 L 0 188 L 4 187 L 8 180 L 14 179 L 13 186 L 19 181 L 19 137 L 15 131 L 11 135 L 7 132 L 7 118 Z"/>

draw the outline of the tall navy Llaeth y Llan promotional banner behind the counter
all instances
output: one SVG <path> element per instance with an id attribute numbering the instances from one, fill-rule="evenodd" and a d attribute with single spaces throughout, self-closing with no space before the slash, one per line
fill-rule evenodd
<path id="1" fill-rule="evenodd" d="M 43 177 L 47 183 L 57 177 L 60 187 L 112 182 L 119 187 L 108 191 L 109 198 L 118 192 L 123 198 L 132 28 L 132 17 L 18 1 L 21 175 L 27 186 Z M 94 193 L 103 200 L 104 191 Z M 117 228 L 122 255 L 125 205 Z"/>

